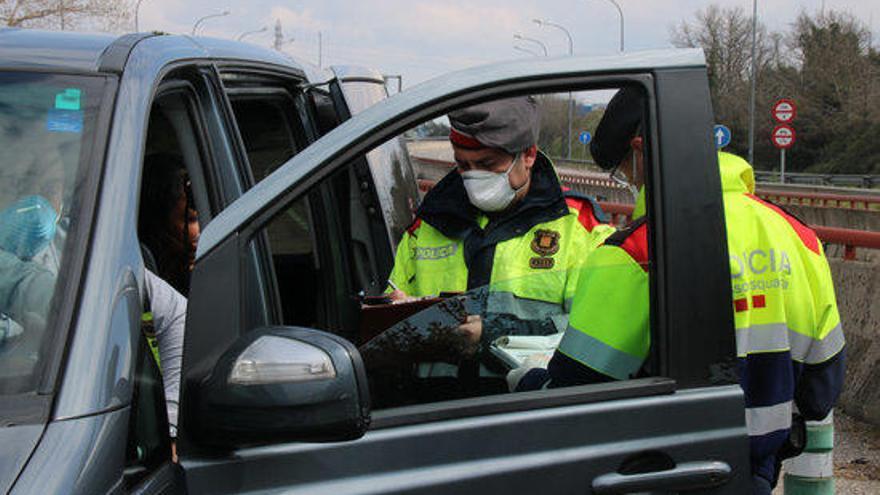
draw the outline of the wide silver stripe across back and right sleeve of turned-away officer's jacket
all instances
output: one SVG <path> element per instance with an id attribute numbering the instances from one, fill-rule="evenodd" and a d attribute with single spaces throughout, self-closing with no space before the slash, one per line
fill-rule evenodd
<path id="1" fill-rule="evenodd" d="M 745 357 L 761 352 L 791 351 L 791 358 L 806 364 L 818 364 L 840 352 L 845 343 L 838 324 L 822 340 L 798 333 L 784 323 L 752 325 L 736 329 L 736 354 Z"/>

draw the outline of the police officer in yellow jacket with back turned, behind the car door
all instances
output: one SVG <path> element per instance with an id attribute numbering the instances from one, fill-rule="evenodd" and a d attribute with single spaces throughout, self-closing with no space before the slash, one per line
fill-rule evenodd
<path id="1" fill-rule="evenodd" d="M 600 164 L 634 170 L 628 175 L 637 185 L 644 177 L 641 98 L 631 89 L 615 95 L 592 149 Z M 629 160 L 636 161 L 631 168 Z M 745 160 L 719 153 L 719 165 L 754 493 L 769 494 L 781 458 L 796 454 L 789 442 L 794 407 L 803 418 L 822 419 L 840 394 L 844 337 L 816 234 L 754 196 Z M 587 260 L 569 327 L 548 369 L 529 371 L 517 389 L 635 376 L 650 347 L 647 262 L 641 217 Z"/>

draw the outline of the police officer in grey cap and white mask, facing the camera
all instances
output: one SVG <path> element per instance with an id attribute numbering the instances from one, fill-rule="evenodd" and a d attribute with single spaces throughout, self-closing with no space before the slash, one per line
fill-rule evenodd
<path id="1" fill-rule="evenodd" d="M 401 240 L 393 299 L 488 289 L 461 330 L 472 342 L 565 330 L 575 266 L 613 228 L 584 195 L 564 193 L 537 149 L 531 97 L 449 114 L 456 169 L 425 196 Z"/>

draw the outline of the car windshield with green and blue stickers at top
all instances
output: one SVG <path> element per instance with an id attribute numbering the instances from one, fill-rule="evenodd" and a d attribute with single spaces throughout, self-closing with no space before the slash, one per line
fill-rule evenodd
<path id="1" fill-rule="evenodd" d="M 63 345 L 50 330 L 53 301 L 68 276 L 104 81 L 0 72 L 0 395 L 37 390 L 48 344 Z"/>

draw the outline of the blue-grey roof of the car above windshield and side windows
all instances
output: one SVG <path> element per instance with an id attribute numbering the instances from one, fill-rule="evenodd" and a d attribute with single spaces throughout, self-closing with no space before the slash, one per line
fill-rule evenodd
<path id="1" fill-rule="evenodd" d="M 163 33 L 114 35 L 19 28 L 0 29 L 0 68 L 114 72 L 121 68 L 120 63 L 125 63 L 128 52 L 135 44 L 159 36 L 165 43 L 179 43 L 181 48 L 186 48 L 182 51 L 188 53 L 192 53 L 194 48 L 199 49 L 204 52 L 205 58 L 294 67 L 312 77 L 321 77 L 320 71 L 307 63 L 251 43 Z M 115 63 L 108 64 L 108 59 L 114 56 Z"/>

